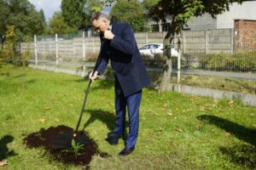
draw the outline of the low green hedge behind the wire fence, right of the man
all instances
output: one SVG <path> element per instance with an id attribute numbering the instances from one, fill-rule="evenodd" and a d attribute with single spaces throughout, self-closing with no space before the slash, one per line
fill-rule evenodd
<path id="1" fill-rule="evenodd" d="M 162 54 L 156 54 L 154 59 L 143 55 L 147 66 L 162 68 L 166 59 Z M 256 71 L 256 51 L 239 52 L 234 54 L 205 54 L 194 56 L 183 54 L 181 58 L 183 69 L 203 69 L 210 71 Z M 172 68 L 177 68 L 177 57 L 172 58 Z"/>

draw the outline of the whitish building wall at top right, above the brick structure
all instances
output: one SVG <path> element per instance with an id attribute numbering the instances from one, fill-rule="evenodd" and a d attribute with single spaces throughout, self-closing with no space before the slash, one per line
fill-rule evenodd
<path id="1" fill-rule="evenodd" d="M 230 11 L 217 15 L 217 28 L 233 28 L 236 19 L 256 20 L 256 1 L 230 5 Z"/>

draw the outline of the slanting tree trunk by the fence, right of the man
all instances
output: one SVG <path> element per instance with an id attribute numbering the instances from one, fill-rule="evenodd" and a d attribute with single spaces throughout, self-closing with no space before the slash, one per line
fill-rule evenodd
<path id="1" fill-rule="evenodd" d="M 172 26 L 171 26 L 172 28 Z M 168 82 L 170 82 L 172 74 L 172 57 L 171 57 L 171 43 L 174 39 L 175 31 L 170 29 L 164 39 L 164 58 L 166 59 L 166 64 L 163 68 L 162 78 L 160 80 L 159 92 L 166 91 Z"/>

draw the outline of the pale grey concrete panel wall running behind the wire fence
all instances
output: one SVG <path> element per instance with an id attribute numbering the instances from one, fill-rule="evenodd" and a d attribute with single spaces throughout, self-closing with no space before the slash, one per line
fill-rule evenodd
<path id="1" fill-rule="evenodd" d="M 138 32 L 135 34 L 138 48 L 145 43 L 162 43 L 166 32 Z M 100 50 L 100 40 L 98 37 L 38 37 L 37 41 L 38 55 L 44 57 L 55 54 L 56 41 L 58 42 L 58 53 L 61 57 L 82 56 L 83 50 L 87 56 L 96 55 Z M 84 42 L 83 42 L 84 39 Z M 183 31 L 182 34 L 182 53 L 183 54 L 215 54 L 215 53 L 233 53 L 233 29 L 218 29 L 207 31 Z M 83 44 L 85 49 L 83 49 Z M 177 36 L 173 41 L 174 48 L 177 48 Z M 27 47 L 34 54 L 34 45 L 32 42 L 21 42 L 21 52 Z"/>

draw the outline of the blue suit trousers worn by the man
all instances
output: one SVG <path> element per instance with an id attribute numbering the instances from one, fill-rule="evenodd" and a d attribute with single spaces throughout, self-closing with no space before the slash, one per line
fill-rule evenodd
<path id="1" fill-rule="evenodd" d="M 113 132 L 124 136 L 126 107 L 129 117 L 129 133 L 126 139 L 127 147 L 134 147 L 137 142 L 139 127 L 139 107 L 142 99 L 142 90 L 127 97 L 124 96 L 118 82 L 115 83 L 115 111 L 116 125 Z"/>

